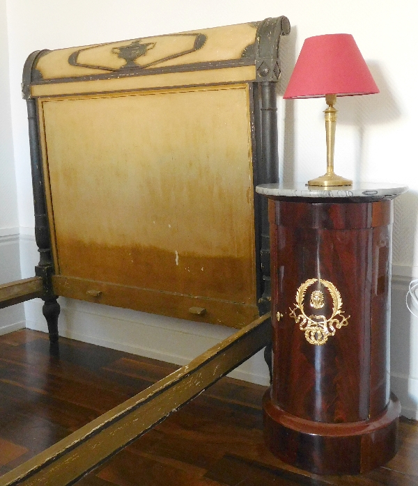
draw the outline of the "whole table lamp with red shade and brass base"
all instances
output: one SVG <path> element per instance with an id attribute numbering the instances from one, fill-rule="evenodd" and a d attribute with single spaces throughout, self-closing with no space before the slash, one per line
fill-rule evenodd
<path id="1" fill-rule="evenodd" d="M 334 173 L 337 96 L 371 95 L 378 86 L 355 43 L 345 33 L 309 37 L 304 41 L 284 99 L 325 97 L 327 172 L 308 181 L 310 186 L 350 186 L 352 180 Z"/>

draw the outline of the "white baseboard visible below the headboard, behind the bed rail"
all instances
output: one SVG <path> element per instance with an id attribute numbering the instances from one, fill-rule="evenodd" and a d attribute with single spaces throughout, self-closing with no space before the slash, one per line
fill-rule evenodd
<path id="1" fill-rule="evenodd" d="M 235 332 L 212 324 L 190 322 L 100 304 L 60 298 L 59 334 L 114 350 L 183 366 Z M 47 332 L 42 301 L 25 303 L 26 327 Z M 268 386 L 268 368 L 258 352 L 229 376 Z"/>

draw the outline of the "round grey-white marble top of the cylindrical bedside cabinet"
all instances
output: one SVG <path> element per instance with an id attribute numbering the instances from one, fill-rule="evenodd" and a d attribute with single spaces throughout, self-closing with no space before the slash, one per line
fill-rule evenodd
<path id="1" fill-rule="evenodd" d="M 316 187 L 304 182 L 295 185 L 261 184 L 256 187 L 264 196 L 287 196 L 299 198 L 376 198 L 392 199 L 408 191 L 408 186 L 384 182 L 355 182 L 352 186 Z"/>

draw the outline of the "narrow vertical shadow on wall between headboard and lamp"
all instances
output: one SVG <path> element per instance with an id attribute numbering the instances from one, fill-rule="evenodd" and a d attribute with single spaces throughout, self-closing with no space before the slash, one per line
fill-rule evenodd
<path id="1" fill-rule="evenodd" d="M 297 27 L 292 26 L 291 33 L 281 38 L 280 49 L 281 77 L 279 95 L 283 96 L 296 63 Z M 284 134 L 283 134 L 283 173 L 282 182 L 293 185 L 295 182 L 295 102 L 284 100 Z"/>

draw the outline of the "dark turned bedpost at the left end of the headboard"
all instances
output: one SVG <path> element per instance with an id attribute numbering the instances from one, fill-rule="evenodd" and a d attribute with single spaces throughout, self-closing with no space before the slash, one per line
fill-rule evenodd
<path id="1" fill-rule="evenodd" d="M 45 182 L 42 170 L 42 159 L 39 146 L 38 114 L 36 100 L 31 99 L 29 84 L 32 79 L 33 66 L 38 58 L 48 51 L 33 52 L 26 60 L 23 70 L 22 95 L 26 100 L 29 124 L 29 146 L 31 150 L 31 171 L 33 185 L 33 207 L 35 211 L 35 239 L 40 253 L 40 260 L 35 267 L 36 276 L 42 278 L 43 293 L 42 313 L 47 320 L 49 340 L 51 343 L 58 341 L 58 316 L 60 306 L 57 296 L 52 289 L 52 274 L 54 262 L 51 255 L 51 238 L 49 234 L 47 208 L 45 203 Z"/>

